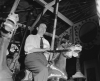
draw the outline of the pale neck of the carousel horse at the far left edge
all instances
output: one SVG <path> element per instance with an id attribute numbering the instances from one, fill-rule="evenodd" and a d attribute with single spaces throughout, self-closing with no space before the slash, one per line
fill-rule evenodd
<path id="1" fill-rule="evenodd" d="M 11 71 L 6 64 L 6 47 L 9 40 L 0 38 L 0 81 L 12 81 Z"/>

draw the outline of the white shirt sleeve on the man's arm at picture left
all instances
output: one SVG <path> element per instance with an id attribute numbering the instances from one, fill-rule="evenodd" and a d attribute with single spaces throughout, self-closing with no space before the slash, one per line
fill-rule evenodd
<path id="1" fill-rule="evenodd" d="M 24 50 L 25 52 L 30 52 L 30 50 L 33 48 L 33 42 L 34 42 L 34 37 L 32 37 L 33 35 L 29 35 L 27 38 L 26 38 L 26 41 L 25 41 L 25 46 L 24 46 Z"/>

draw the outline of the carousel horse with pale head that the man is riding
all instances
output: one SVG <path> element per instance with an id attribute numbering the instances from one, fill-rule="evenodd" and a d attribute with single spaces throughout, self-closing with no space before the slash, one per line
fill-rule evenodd
<path id="1" fill-rule="evenodd" d="M 48 81 L 59 81 L 59 79 L 67 80 L 66 59 L 71 58 L 72 56 L 77 57 L 81 50 L 82 47 L 80 45 L 67 46 L 67 49 L 66 47 L 58 48 L 58 52 L 54 54 L 53 64 L 47 65 L 49 72 Z M 25 70 L 25 77 L 21 81 L 32 81 L 32 78 L 32 72 Z"/>

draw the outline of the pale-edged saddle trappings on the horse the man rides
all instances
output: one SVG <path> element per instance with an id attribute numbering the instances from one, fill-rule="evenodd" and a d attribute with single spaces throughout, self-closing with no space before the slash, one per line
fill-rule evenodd
<path id="1" fill-rule="evenodd" d="M 53 64 L 51 66 L 48 67 L 48 70 L 49 70 L 49 76 L 48 76 L 48 79 L 50 78 L 54 78 L 54 77 L 57 77 L 57 78 L 64 78 L 64 79 L 67 79 L 67 75 L 61 71 L 60 69 L 58 69 L 56 66 L 54 66 Z"/>

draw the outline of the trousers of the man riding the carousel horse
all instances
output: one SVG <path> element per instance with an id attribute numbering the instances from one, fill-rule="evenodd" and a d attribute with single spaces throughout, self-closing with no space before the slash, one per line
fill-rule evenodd
<path id="1" fill-rule="evenodd" d="M 31 53 L 25 58 L 25 66 L 33 73 L 34 81 L 47 81 L 48 64 L 43 53 Z"/>

